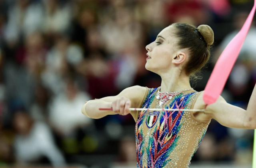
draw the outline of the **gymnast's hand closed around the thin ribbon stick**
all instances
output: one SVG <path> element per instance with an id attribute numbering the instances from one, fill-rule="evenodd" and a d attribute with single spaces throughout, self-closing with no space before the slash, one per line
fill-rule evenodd
<path id="1" fill-rule="evenodd" d="M 116 114 L 127 115 L 130 113 L 131 100 L 125 97 L 121 97 L 111 103 L 111 107 Z"/>

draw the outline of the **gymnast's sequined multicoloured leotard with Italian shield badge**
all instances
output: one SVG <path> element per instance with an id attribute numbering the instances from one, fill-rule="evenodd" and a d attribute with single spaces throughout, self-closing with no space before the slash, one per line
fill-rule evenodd
<path id="1" fill-rule="evenodd" d="M 148 89 L 148 88 L 147 88 Z M 142 108 L 156 106 L 159 88 L 148 89 Z M 180 93 L 163 108 L 193 108 L 198 92 Z M 198 121 L 192 112 L 141 111 L 135 126 L 138 168 L 188 168 L 210 121 Z"/>

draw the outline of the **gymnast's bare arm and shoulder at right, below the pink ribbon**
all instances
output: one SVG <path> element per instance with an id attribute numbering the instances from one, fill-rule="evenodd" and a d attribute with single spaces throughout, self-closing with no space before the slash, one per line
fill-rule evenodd
<path id="1" fill-rule="evenodd" d="M 200 107 L 198 105 L 194 107 L 195 109 L 202 109 L 205 106 L 202 95 L 198 97 L 199 101 L 197 102 L 203 103 L 199 105 Z M 215 103 L 208 105 L 203 113 L 204 115 L 201 116 L 203 116 L 204 120 L 213 118 L 226 127 L 256 129 L 256 88 L 252 92 L 247 110 L 227 103 L 220 96 Z"/>

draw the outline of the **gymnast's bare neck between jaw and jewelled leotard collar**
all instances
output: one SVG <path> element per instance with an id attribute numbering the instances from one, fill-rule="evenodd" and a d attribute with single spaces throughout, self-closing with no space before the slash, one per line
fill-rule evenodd
<path id="1" fill-rule="evenodd" d="M 176 70 L 174 73 L 162 74 L 160 76 L 162 78 L 161 92 L 176 92 L 191 89 L 189 77 L 182 74 L 180 70 Z"/>

